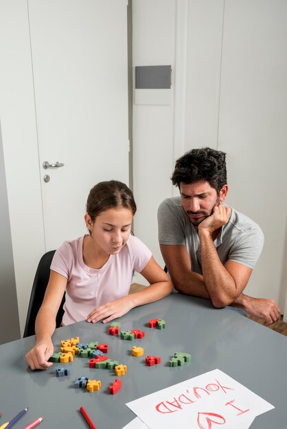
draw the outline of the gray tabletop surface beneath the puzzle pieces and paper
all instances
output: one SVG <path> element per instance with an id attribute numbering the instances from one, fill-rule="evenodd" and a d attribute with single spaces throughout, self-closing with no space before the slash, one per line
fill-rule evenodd
<path id="1" fill-rule="evenodd" d="M 150 319 L 164 319 L 165 330 L 148 328 Z M 27 369 L 25 353 L 34 344 L 34 336 L 0 346 L 0 424 L 29 407 L 27 414 L 15 424 L 23 428 L 37 417 L 44 417 L 39 426 L 45 428 L 87 428 L 80 406 L 84 406 L 97 429 L 117 429 L 128 424 L 135 415 L 126 402 L 158 391 L 172 384 L 221 369 L 275 406 L 256 417 L 252 429 L 287 428 L 287 338 L 260 326 L 236 312 L 211 308 L 205 299 L 173 294 L 154 304 L 131 310 L 119 319 L 122 330 L 145 331 L 144 339 L 121 340 L 108 334 L 103 323 L 85 321 L 56 330 L 55 351 L 60 340 L 80 336 L 87 343 L 107 343 L 108 356 L 128 367 L 122 376 L 122 389 L 110 395 L 108 387 L 116 378 L 114 371 L 90 369 L 88 358 L 74 359 L 71 376 L 56 378 L 55 367 L 47 371 Z M 144 348 L 143 356 L 131 355 L 133 345 Z M 169 367 L 174 352 L 192 354 L 192 363 Z M 144 357 L 161 356 L 161 365 L 147 367 Z M 89 393 L 76 390 L 73 382 L 80 376 L 101 380 L 102 389 Z M 188 426 L 186 426 L 188 427 Z"/>

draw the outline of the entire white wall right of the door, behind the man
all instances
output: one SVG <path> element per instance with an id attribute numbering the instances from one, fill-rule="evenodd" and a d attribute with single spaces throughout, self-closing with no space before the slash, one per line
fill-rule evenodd
<path id="1" fill-rule="evenodd" d="M 183 32 L 176 27 L 174 12 L 183 3 L 133 3 L 134 66 L 174 64 L 173 73 L 180 69 L 182 75 L 184 66 L 186 69 L 186 97 L 177 106 L 174 101 L 166 110 L 163 106 L 134 106 L 134 190 L 140 219 L 135 233 L 159 255 L 154 224 L 157 206 L 174 194 L 169 177 L 179 149 L 179 155 L 204 145 L 226 151 L 227 202 L 257 221 L 266 238 L 246 291 L 255 297 L 272 297 L 283 311 L 287 284 L 287 3 L 187 1 L 187 60 L 176 64 L 174 45 Z M 178 87 L 173 91 L 176 96 Z M 185 114 L 183 142 L 176 139 L 173 121 L 179 109 Z"/>

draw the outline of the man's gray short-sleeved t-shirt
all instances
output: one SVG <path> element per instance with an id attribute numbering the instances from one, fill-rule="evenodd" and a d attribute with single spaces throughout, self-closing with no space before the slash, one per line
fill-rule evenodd
<path id="1" fill-rule="evenodd" d="M 192 271 L 202 274 L 198 233 L 183 210 L 181 197 L 165 199 L 159 206 L 157 216 L 159 244 L 186 245 Z M 233 208 L 228 223 L 222 226 L 214 241 L 223 265 L 227 260 L 232 260 L 252 269 L 263 244 L 264 235 L 257 223 Z"/>

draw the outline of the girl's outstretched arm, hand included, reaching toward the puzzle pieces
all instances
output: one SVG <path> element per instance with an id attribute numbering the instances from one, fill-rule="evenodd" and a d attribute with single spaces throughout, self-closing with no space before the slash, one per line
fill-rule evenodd
<path id="1" fill-rule="evenodd" d="M 56 315 L 67 285 L 67 278 L 50 271 L 49 283 L 35 323 L 36 344 L 26 354 L 31 369 L 47 369 L 52 363 L 48 362 L 54 352 L 51 336 L 56 328 Z"/>

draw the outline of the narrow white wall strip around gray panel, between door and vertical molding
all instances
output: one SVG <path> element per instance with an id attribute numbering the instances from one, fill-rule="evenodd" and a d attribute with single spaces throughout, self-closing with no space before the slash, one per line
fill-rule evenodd
<path id="1" fill-rule="evenodd" d="M 133 1 L 134 66 L 171 64 L 174 69 L 175 8 L 175 0 Z M 170 105 L 133 105 L 134 229 L 161 265 L 157 206 L 164 195 L 172 192 L 173 88 Z"/>

